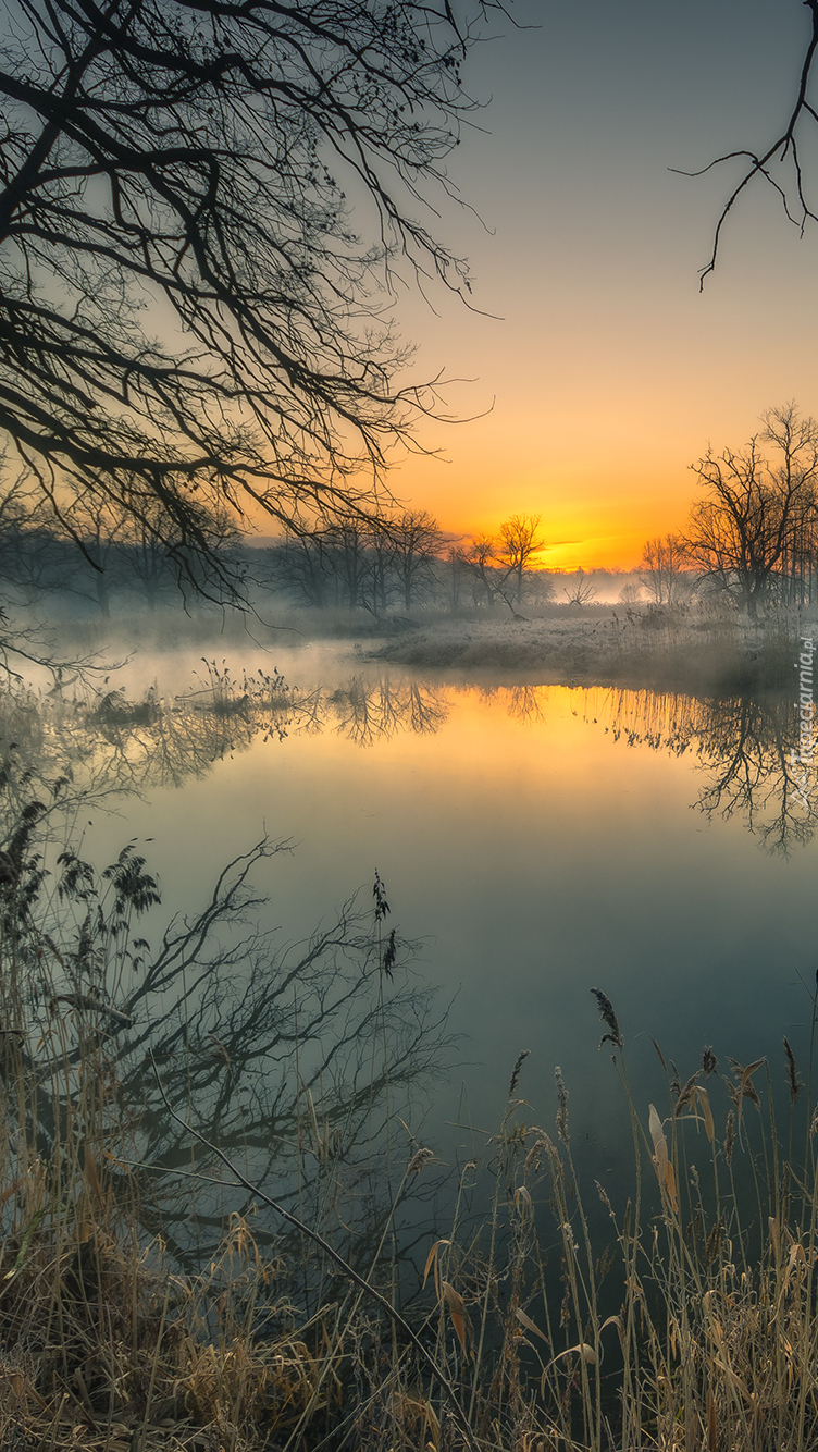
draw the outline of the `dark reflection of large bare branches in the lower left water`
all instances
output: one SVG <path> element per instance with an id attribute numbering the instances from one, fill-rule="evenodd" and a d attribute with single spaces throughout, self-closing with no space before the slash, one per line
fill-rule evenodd
<path id="1" fill-rule="evenodd" d="M 144 1228 L 161 1230 L 180 1262 L 202 1253 L 247 1205 L 219 1183 L 216 1160 L 193 1156 L 158 1074 L 212 1144 L 258 1183 L 274 1176 L 280 1199 L 365 1260 L 383 1212 L 386 1124 L 416 1112 L 447 1045 L 410 945 L 384 941 L 383 913 L 352 899 L 307 941 L 278 947 L 257 925 L 265 899 L 251 877 L 286 845 L 263 841 L 151 951 L 138 935 L 158 903 L 144 858 L 129 847 L 96 874 L 68 849 L 49 880 L 41 828 L 32 804 L 0 873 L 9 1146 L 28 1143 L 29 1157 L 36 1146 L 45 1166 L 71 1147 L 80 1163 L 90 1151 L 122 1202 L 128 1166 L 149 1165 L 160 1178 L 139 1201 Z M 190 1179 L 193 1166 L 212 1179 Z M 20 1166 L 4 1172 L 16 1179 Z"/>

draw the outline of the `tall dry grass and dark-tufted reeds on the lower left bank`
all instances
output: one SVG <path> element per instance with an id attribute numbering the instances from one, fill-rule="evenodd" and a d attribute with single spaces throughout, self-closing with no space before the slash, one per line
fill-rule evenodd
<path id="1" fill-rule="evenodd" d="M 48 954 L 68 950 L 33 931 L 7 886 L 0 916 L 0 1445 L 263 1448 L 315 1384 L 276 1266 L 238 1217 L 199 1276 L 145 1243 L 129 1167 L 139 1106 L 122 1095 L 110 1013 L 59 995 L 33 1043 L 28 989 L 46 987 Z"/>

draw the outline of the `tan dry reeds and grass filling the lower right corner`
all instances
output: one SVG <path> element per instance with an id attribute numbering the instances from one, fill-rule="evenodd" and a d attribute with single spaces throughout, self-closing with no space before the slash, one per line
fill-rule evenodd
<path id="1" fill-rule="evenodd" d="M 643 1125 L 598 998 L 631 1117 L 629 1195 L 616 1207 L 596 1185 L 583 1198 L 560 1069 L 554 1137 L 509 1099 L 486 1153 L 490 1218 L 474 1228 L 458 1208 L 429 1252 L 435 1353 L 484 1448 L 812 1452 L 818 1117 L 808 1133 L 799 1117 L 805 1141 L 785 1159 L 767 1064 L 722 1077 L 708 1048 L 686 1082 L 669 1074 L 666 1111 L 650 1105 Z M 802 1085 L 786 1043 L 782 1070 L 792 1109 Z"/>

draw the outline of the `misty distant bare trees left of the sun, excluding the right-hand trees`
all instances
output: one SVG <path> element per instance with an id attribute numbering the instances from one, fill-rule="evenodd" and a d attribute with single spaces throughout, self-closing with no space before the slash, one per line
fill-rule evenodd
<path id="1" fill-rule="evenodd" d="M 133 604 L 155 610 L 178 601 L 180 584 L 220 604 L 238 588 L 251 605 L 270 598 L 318 610 L 360 610 L 380 620 L 432 607 L 458 610 L 524 605 L 551 600 L 576 604 L 593 598 L 579 575 L 557 576 L 538 568 L 544 549 L 538 515 L 512 515 L 496 537 L 461 543 L 447 536 L 426 511 L 325 523 L 254 547 L 229 518 L 200 511 L 212 552 L 210 566 L 178 558 L 149 520 L 135 520 L 113 505 L 54 513 L 32 507 L 30 495 L 9 489 L 0 499 L 0 575 L 4 600 L 30 607 L 59 597 L 78 611 L 109 617 Z M 184 540 L 180 540 L 184 547 Z"/>

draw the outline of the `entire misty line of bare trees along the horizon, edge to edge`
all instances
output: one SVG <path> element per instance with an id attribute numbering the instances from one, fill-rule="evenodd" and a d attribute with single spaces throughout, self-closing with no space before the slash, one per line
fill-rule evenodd
<path id="1" fill-rule="evenodd" d="M 178 588 L 218 605 L 278 603 L 363 611 L 373 620 L 422 608 L 525 608 L 596 600 L 677 605 L 695 592 L 756 617 L 770 603 L 818 601 L 818 423 L 795 404 L 763 415 L 740 450 L 712 450 L 693 465 L 701 495 L 686 529 L 645 543 L 641 569 L 618 578 L 547 569 L 538 514 L 513 514 L 493 536 L 453 539 L 425 510 L 386 510 L 318 520 L 302 533 L 252 547 L 235 514 L 189 504 L 196 550 L 160 529 L 158 505 L 125 510 L 81 491 L 36 501 L 22 482 L 0 489 L 1 604 L 49 595 L 109 616 L 138 601 L 155 610 Z M 154 513 L 151 513 L 154 510 Z M 186 526 L 187 527 L 187 526 Z M 193 526 L 190 526 L 193 527 Z"/>

